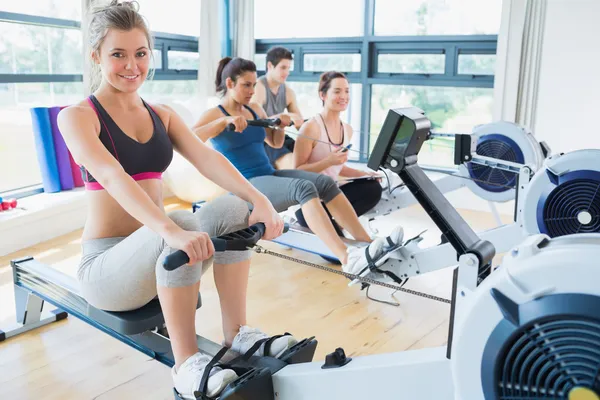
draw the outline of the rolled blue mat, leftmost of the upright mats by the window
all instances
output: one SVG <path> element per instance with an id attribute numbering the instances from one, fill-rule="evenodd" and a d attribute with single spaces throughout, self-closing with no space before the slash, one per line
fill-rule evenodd
<path id="1" fill-rule="evenodd" d="M 47 107 L 34 107 L 31 110 L 33 125 L 33 138 L 37 153 L 38 164 L 42 174 L 44 192 L 60 192 L 60 177 L 56 153 L 54 152 L 54 139 L 52 138 L 52 125 Z"/>

